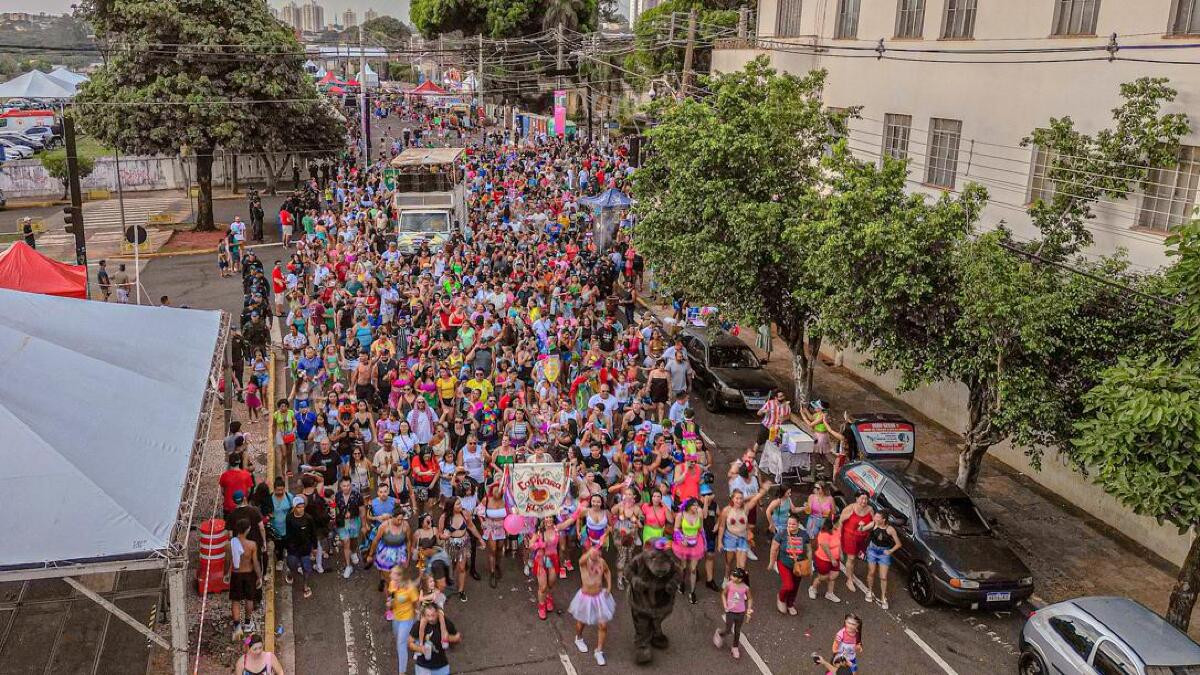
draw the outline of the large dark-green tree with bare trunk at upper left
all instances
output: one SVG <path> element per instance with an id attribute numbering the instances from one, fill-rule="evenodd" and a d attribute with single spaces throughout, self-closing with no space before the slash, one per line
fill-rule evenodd
<path id="1" fill-rule="evenodd" d="M 196 156 L 197 229 L 214 229 L 212 156 L 334 154 L 341 124 L 304 72 L 304 48 L 263 2 L 90 0 L 114 44 L 74 100 L 89 135 L 130 154 Z"/>

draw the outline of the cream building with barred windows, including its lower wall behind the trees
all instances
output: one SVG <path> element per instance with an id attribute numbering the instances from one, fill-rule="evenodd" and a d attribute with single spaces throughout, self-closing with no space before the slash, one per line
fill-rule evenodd
<path id="1" fill-rule="evenodd" d="M 1091 252 L 1127 249 L 1140 269 L 1168 262 L 1165 235 L 1196 204 L 1200 67 L 1132 59 L 1200 61 L 1200 48 L 1189 47 L 1200 42 L 1200 0 L 760 0 L 757 14 L 756 37 L 718 43 L 714 71 L 740 68 L 760 54 L 794 73 L 827 70 L 826 102 L 862 106 L 863 119 L 850 124 L 857 155 L 908 157 L 914 191 L 984 185 L 991 197 L 984 225 L 1004 221 L 1019 239 L 1037 235 L 1026 208 L 1052 187 L 1039 171 L 1044 156 L 1022 148 L 1021 139 L 1064 115 L 1084 132 L 1109 127 L 1122 83 L 1169 78 L 1178 96 L 1165 109 L 1188 113 L 1194 129 L 1183 139 L 1180 165 L 1152 172 L 1146 191 L 1097 204 L 1098 217 L 1088 222 Z M 840 357 L 894 389 L 895 378 L 862 368 L 859 354 Z M 965 428 L 961 386 L 923 387 L 904 399 L 950 429 Z M 1190 536 L 1133 515 L 1054 453 L 1040 472 L 1019 449 L 1004 446 L 994 454 L 1134 540 L 1182 561 Z"/>

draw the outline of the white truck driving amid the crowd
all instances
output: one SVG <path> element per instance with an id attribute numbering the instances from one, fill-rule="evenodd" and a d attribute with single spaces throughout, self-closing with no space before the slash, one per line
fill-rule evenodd
<path id="1" fill-rule="evenodd" d="M 414 252 L 442 247 L 467 222 L 463 148 L 408 148 L 385 172 L 394 183 L 396 246 Z"/>

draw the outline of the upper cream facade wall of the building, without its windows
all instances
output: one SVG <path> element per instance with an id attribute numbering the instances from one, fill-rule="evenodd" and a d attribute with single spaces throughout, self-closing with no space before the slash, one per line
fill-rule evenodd
<path id="1" fill-rule="evenodd" d="M 983 214 L 983 222 L 995 226 L 1004 221 L 1020 239 L 1037 234 L 1026 214 L 1032 149 L 1021 148 L 1020 142 L 1033 129 L 1044 126 L 1051 117 L 1069 115 L 1078 129 L 1094 132 L 1112 124 L 1110 110 L 1120 102 L 1118 88 L 1122 83 L 1144 76 L 1166 77 L 1171 86 L 1178 90 L 1178 97 L 1166 110 L 1187 112 L 1192 115 L 1194 131 L 1183 142 L 1200 145 L 1200 68 L 1194 66 L 1121 60 L 1109 62 L 1104 52 L 1086 53 L 1085 55 L 1105 58 L 1087 62 L 924 62 L 952 59 L 1016 61 L 1079 58 L 1079 54 L 1022 56 L 972 54 L 966 50 L 1106 46 L 1108 36 L 1112 32 L 1121 36 L 1118 44 L 1124 47 L 1118 56 L 1194 60 L 1200 49 L 1132 48 L 1177 46 L 1189 41 L 1165 35 L 1171 0 L 1104 0 L 1099 2 L 1094 37 L 1050 37 L 1055 5 L 1051 0 L 980 1 L 974 37 L 942 40 L 940 35 L 946 1 L 925 1 L 924 38 L 898 40 L 893 37 L 896 1 L 862 0 L 857 38 L 835 40 L 833 35 L 838 0 L 791 0 L 791 6 L 800 5 L 798 32 L 803 35 L 798 37 L 776 37 L 781 0 L 760 0 L 758 42 L 739 44 L 736 41 L 722 41 L 714 50 L 713 68 L 737 70 L 750 58 L 767 54 L 780 70 L 797 73 L 812 68 L 828 70 L 824 90 L 828 104 L 862 106 L 863 119 L 852 120 L 850 125 L 850 145 L 864 159 L 878 159 L 881 154 L 886 114 L 911 115 L 910 185 L 913 191 L 929 195 L 942 191 L 923 184 L 930 118 L 961 120 L 954 189 L 961 190 L 970 181 L 984 185 L 991 201 Z M 872 49 L 881 38 L 887 49 L 947 49 L 952 53 L 905 54 L 906 58 L 920 59 L 923 62 L 838 55 L 848 52 L 839 52 L 836 47 Z M 816 54 L 804 53 L 817 44 L 832 49 Z M 900 56 L 896 52 L 892 52 L 892 55 Z M 1193 204 L 1195 192 L 1192 190 L 1187 197 Z M 1091 252 L 1111 253 L 1126 249 L 1136 268 L 1154 269 L 1165 264 L 1164 234 L 1136 227 L 1142 208 L 1140 193 L 1098 204 L 1098 217 L 1088 225 L 1096 240 Z"/>

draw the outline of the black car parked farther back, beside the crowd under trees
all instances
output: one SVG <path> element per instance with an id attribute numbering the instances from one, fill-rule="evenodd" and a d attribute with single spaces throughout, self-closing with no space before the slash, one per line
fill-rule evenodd
<path id="1" fill-rule="evenodd" d="M 679 339 L 696 372 L 696 393 L 709 411 L 756 411 L 776 388 L 754 351 L 733 335 L 715 328 L 690 327 L 680 333 Z"/>

